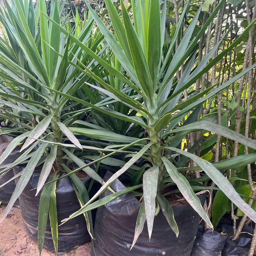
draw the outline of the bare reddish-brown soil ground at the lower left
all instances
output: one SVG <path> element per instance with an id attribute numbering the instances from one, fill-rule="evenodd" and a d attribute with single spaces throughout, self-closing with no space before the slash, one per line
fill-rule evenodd
<path id="1" fill-rule="evenodd" d="M 0 219 L 6 206 L 0 205 Z M 25 231 L 22 223 L 20 209 L 13 207 L 12 211 L 0 223 L 0 256 L 39 256 L 37 241 L 31 238 Z M 79 246 L 75 250 L 63 254 L 63 256 L 90 256 L 91 243 Z M 56 256 L 48 249 L 43 249 L 42 256 Z"/>

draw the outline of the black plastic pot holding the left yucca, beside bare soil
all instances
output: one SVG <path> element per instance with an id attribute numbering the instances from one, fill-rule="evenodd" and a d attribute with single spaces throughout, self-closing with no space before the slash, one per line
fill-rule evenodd
<path id="1" fill-rule="evenodd" d="M 14 168 L 14 173 L 19 173 L 24 167 L 17 166 Z M 39 171 L 34 171 L 29 183 L 19 196 L 20 210 L 23 218 L 23 225 L 26 232 L 37 240 L 38 237 L 38 209 L 40 193 L 35 196 L 39 178 Z M 91 182 L 91 178 L 88 176 L 81 179 L 84 185 L 88 188 Z M 31 190 L 33 189 L 33 190 Z M 98 188 L 95 188 L 98 189 Z M 91 193 L 94 193 L 91 191 Z M 61 224 L 61 220 L 69 217 L 72 213 L 80 209 L 76 193 L 72 186 L 72 183 L 68 177 L 62 178 L 57 181 L 56 185 L 56 200 L 57 200 L 57 217 L 58 223 Z M 95 217 L 95 213 L 94 213 Z M 74 248 L 85 244 L 91 240 L 91 237 L 87 231 L 86 221 L 83 215 L 71 219 L 65 224 L 59 226 L 59 242 L 58 242 L 58 254 L 72 251 Z M 48 219 L 44 246 L 51 251 L 54 251 L 54 245 L 52 240 L 52 233 L 50 229 L 50 222 Z"/>

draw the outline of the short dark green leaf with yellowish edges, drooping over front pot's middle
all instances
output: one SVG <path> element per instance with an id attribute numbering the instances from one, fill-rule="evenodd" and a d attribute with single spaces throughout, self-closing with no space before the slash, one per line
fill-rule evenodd
<path id="1" fill-rule="evenodd" d="M 170 206 L 169 201 L 165 197 L 160 195 L 159 193 L 157 194 L 157 200 L 161 206 L 163 215 L 165 215 L 167 222 L 169 223 L 173 232 L 176 234 L 176 237 L 178 237 L 179 230 L 178 230 L 177 223 L 174 219 L 174 213 L 173 213 L 172 206 Z"/>

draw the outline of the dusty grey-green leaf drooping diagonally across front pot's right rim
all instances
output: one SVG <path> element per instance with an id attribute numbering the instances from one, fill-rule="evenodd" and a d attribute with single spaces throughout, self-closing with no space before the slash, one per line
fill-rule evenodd
<path id="1" fill-rule="evenodd" d="M 168 148 L 171 150 L 174 149 L 172 147 L 168 147 Z M 175 149 L 175 150 L 177 152 L 182 151 L 182 150 L 178 150 L 178 149 Z M 189 154 L 189 155 L 193 155 L 193 154 Z M 201 158 L 199 158 L 199 159 L 201 159 Z M 177 185 L 178 189 L 180 190 L 180 192 L 182 193 L 184 198 L 194 208 L 194 210 L 200 215 L 200 217 L 202 217 L 204 219 L 204 221 L 210 227 L 212 227 L 212 223 L 211 223 L 208 215 L 204 211 L 199 198 L 195 195 L 188 180 L 185 178 L 185 176 L 183 176 L 182 174 L 180 174 L 177 171 L 176 167 L 169 160 L 167 160 L 166 157 L 162 157 L 162 160 L 163 160 L 163 163 L 164 163 L 166 170 L 169 173 L 171 179 L 175 182 L 175 184 Z"/>

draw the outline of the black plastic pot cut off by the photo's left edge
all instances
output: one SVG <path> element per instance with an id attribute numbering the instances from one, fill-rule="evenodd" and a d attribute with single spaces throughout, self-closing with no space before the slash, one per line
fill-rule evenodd
<path id="1" fill-rule="evenodd" d="M 14 137 L 9 135 L 0 136 L 0 157 L 13 139 Z M 16 147 L 15 150 L 12 151 L 11 154 L 7 157 L 7 159 L 5 159 L 3 163 L 1 163 L 1 166 L 11 163 L 12 160 L 18 156 L 20 148 L 21 148 L 20 146 Z M 3 185 L 5 182 L 9 181 L 13 176 L 14 176 L 13 170 L 9 170 L 7 173 L 4 174 L 4 176 L 0 178 L 0 185 Z M 14 192 L 15 187 L 16 187 L 16 184 L 14 180 L 8 182 L 3 187 L 1 187 L 0 202 L 2 202 L 3 204 L 8 204 L 11 199 L 12 193 Z M 16 202 L 14 203 L 14 206 L 19 206 L 19 199 L 16 200 Z"/>

